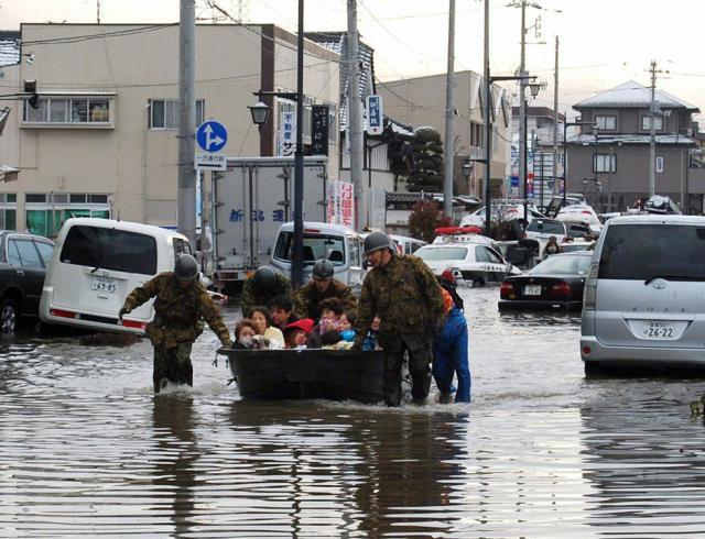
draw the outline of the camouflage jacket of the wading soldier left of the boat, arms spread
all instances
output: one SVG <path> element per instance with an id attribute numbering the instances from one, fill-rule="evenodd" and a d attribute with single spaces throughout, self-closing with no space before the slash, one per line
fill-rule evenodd
<path id="1" fill-rule="evenodd" d="M 182 289 L 171 272 L 132 290 L 123 308 L 132 310 L 150 298 L 154 299 L 154 320 L 147 327 L 147 336 L 155 346 L 173 348 L 193 342 L 203 332 L 205 320 L 224 346 L 230 346 L 230 333 L 208 293 L 198 282 Z"/>

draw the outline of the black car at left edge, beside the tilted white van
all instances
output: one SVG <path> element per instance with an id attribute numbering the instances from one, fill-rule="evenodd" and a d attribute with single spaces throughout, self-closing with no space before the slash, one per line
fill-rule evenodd
<path id="1" fill-rule="evenodd" d="M 13 332 L 20 317 L 37 316 L 53 250 L 46 238 L 0 231 L 0 332 Z"/>

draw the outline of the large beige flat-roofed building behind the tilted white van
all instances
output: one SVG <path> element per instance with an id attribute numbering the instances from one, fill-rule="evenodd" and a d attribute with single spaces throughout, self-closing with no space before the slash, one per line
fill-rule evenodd
<path id="1" fill-rule="evenodd" d="M 19 174 L 0 183 L 4 227 L 54 235 L 73 216 L 176 226 L 178 25 L 23 24 L 19 37 L 22 48 L 0 67 L 4 94 L 36 80 L 39 107 L 8 101 L 0 164 Z M 340 57 L 306 41 L 304 62 L 304 143 L 311 107 L 328 105 L 337 156 Z M 281 114 L 295 102 L 263 96 L 273 113 L 260 134 L 247 107 L 258 90 L 295 89 L 295 34 L 271 24 L 196 26 L 196 123 L 226 125 L 228 156 L 276 155 Z M 328 175 L 338 178 L 337 158 Z"/>

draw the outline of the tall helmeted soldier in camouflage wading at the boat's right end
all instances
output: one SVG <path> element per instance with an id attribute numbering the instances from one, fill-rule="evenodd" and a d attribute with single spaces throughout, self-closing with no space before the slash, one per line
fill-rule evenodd
<path id="1" fill-rule="evenodd" d="M 379 316 L 378 342 L 386 356 L 384 403 L 401 404 L 405 350 L 411 396 L 415 403 L 423 403 L 431 387 L 431 343 L 445 321 L 441 287 L 423 261 L 398 255 L 382 232 L 372 232 L 365 239 L 365 256 L 372 270 L 365 277 L 358 301 L 355 348 L 361 348 L 375 315 Z"/>

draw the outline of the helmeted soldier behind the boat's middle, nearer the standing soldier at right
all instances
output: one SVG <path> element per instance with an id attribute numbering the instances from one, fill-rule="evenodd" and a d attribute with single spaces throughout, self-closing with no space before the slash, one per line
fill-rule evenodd
<path id="1" fill-rule="evenodd" d="M 313 276 L 310 283 L 296 290 L 294 296 L 294 312 L 301 318 L 321 318 L 318 304 L 324 299 L 336 297 L 346 311 L 355 311 L 357 299 L 348 285 L 333 278 L 333 263 L 329 260 L 317 260 L 313 265 Z"/>

